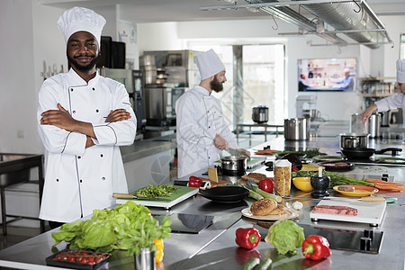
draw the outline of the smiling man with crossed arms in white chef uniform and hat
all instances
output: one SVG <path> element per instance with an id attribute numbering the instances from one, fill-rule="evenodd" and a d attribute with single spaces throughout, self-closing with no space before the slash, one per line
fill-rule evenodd
<path id="1" fill-rule="evenodd" d="M 104 24 L 92 10 L 65 11 L 58 29 L 71 68 L 40 87 L 46 170 L 40 219 L 52 229 L 110 207 L 114 192 L 128 193 L 119 146 L 133 143 L 137 121 L 125 86 L 96 71 Z"/>

